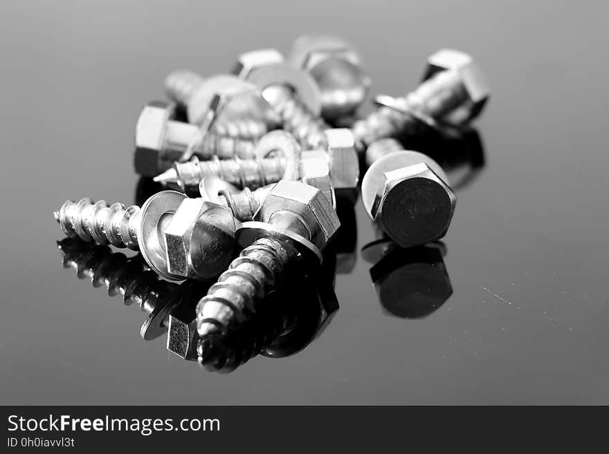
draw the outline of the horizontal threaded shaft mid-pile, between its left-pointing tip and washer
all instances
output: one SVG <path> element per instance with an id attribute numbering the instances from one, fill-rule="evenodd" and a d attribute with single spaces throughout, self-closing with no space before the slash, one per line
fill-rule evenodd
<path id="1" fill-rule="evenodd" d="M 286 160 L 281 157 L 264 159 L 226 159 L 214 156 L 200 161 L 196 156 L 188 162 L 176 162 L 179 184 L 197 186 L 202 178 L 216 176 L 237 187 L 257 188 L 281 180 Z"/>

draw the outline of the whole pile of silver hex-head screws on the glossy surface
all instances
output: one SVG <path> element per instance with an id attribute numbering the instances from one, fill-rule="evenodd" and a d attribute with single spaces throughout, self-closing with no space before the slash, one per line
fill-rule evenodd
<path id="1" fill-rule="evenodd" d="M 288 57 L 244 53 L 230 74 L 176 71 L 165 89 L 171 102 L 138 117 L 135 167 L 169 189 L 141 207 L 69 200 L 55 219 L 69 237 L 139 250 L 167 280 L 214 279 L 196 308 L 201 339 L 234 332 L 287 275 L 318 267 L 340 226 L 335 193 L 357 191 L 361 163 L 365 211 L 386 236 L 442 238 L 456 197 L 439 164 L 401 140 L 459 134 L 489 97 L 469 55 L 439 50 L 414 91 L 358 115 L 370 79 L 328 35 L 296 39 Z"/>

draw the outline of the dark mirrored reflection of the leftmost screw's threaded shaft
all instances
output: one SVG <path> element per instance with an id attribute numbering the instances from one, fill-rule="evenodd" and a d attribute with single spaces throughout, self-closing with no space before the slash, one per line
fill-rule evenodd
<path id="1" fill-rule="evenodd" d="M 112 253 L 107 246 L 91 246 L 78 238 L 57 241 L 64 268 L 72 268 L 79 279 L 89 279 L 93 287 L 106 287 L 109 296 L 120 294 L 126 305 L 136 303 L 140 309 L 152 312 L 168 285 L 160 281 L 140 256 L 128 258 Z"/>

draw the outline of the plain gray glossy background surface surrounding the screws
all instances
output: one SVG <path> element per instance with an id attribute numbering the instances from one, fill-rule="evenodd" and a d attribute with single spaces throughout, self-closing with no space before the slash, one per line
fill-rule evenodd
<path id="1" fill-rule="evenodd" d="M 608 17 L 602 1 L 3 1 L 0 403 L 608 404 Z M 446 237 L 454 294 L 389 316 L 360 259 L 309 348 L 199 370 L 62 268 L 51 212 L 133 201 L 135 120 L 170 70 L 219 73 L 317 30 L 354 42 L 373 93 L 405 93 L 444 46 L 487 71 L 487 168 Z"/>

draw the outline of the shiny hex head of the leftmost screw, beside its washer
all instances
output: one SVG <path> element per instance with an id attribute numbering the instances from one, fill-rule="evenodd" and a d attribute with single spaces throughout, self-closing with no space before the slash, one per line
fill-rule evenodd
<path id="1" fill-rule="evenodd" d="M 212 278 L 233 258 L 235 218 L 213 202 L 184 199 L 163 231 L 167 269 L 182 278 Z"/>

